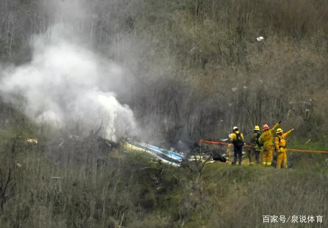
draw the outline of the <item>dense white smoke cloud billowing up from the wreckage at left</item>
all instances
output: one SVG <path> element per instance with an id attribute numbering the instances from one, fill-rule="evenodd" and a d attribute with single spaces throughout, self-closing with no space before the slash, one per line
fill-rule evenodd
<path id="1" fill-rule="evenodd" d="M 2 96 L 10 102 L 23 97 L 26 114 L 39 122 L 65 127 L 79 121 L 84 133 L 101 126 L 103 137 L 111 140 L 133 133 L 133 112 L 106 89 L 124 69 L 63 37 L 66 26 L 55 25 L 32 39 L 32 60 L 2 72 Z"/>

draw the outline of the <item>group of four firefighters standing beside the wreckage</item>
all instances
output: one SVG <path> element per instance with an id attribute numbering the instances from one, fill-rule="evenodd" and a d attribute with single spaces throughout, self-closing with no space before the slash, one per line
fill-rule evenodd
<path id="1" fill-rule="evenodd" d="M 265 124 L 262 127 L 263 132 L 261 133 L 259 126 L 254 127 L 254 133 L 251 135 L 251 148 L 248 151 L 250 165 L 262 164 L 263 166 L 270 167 L 273 160 L 274 151 L 277 152 L 277 165 L 276 168 L 287 168 L 287 150 L 286 150 L 286 137 L 289 136 L 294 129 L 283 133 L 283 130 L 279 128 L 281 121 L 277 122 L 276 125 L 270 129 L 270 126 Z M 233 165 L 239 162 L 241 165 L 242 161 L 242 148 L 245 144 L 244 136 L 237 127 L 233 128 L 233 133 L 230 135 L 230 141 L 234 145 L 234 160 Z"/>

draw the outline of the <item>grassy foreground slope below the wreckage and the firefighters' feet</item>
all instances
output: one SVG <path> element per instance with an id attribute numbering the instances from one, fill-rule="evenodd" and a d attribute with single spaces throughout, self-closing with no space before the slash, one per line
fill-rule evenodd
<path id="1" fill-rule="evenodd" d="M 101 151 L 93 139 L 87 148 L 63 137 L 29 144 L 31 133 L 2 131 L 1 227 L 267 227 L 262 215 L 328 222 L 326 155 L 289 153 L 289 170 L 217 162 L 199 173 Z"/>

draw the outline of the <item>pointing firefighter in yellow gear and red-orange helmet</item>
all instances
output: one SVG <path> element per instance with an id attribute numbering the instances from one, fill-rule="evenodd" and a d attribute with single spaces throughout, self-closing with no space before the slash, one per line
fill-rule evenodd
<path id="1" fill-rule="evenodd" d="M 273 137 L 274 133 L 279 127 L 281 121 L 277 122 L 276 125 L 270 129 L 269 125 L 263 125 L 263 133 L 259 137 L 258 141 L 263 144 L 263 149 L 261 151 L 260 157 L 262 165 L 270 166 L 273 159 Z"/>

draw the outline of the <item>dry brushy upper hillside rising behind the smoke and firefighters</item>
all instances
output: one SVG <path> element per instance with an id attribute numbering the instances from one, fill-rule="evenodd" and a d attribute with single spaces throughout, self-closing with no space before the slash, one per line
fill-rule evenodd
<path id="1" fill-rule="evenodd" d="M 57 5 L 0 5 L 4 63 L 31 58 L 30 39 L 58 22 Z M 96 0 L 81 7 L 83 18 L 66 15 L 68 36 L 130 72 L 113 91 L 144 134 L 174 143 L 282 119 L 300 139 L 327 141 L 325 1 Z"/>

